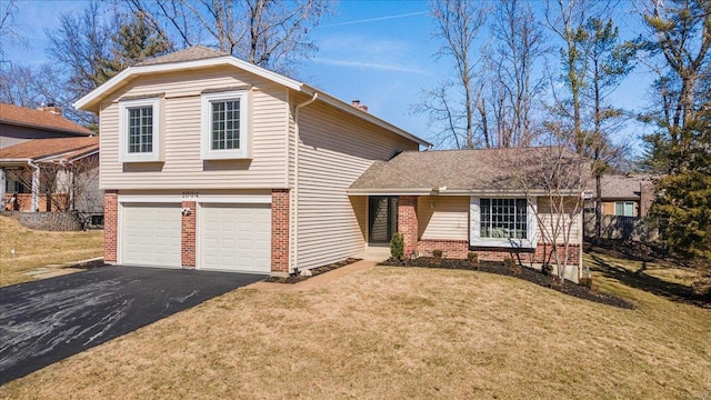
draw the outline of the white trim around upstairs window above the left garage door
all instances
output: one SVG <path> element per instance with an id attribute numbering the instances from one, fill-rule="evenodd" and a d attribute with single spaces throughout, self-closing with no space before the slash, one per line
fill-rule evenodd
<path id="1" fill-rule="evenodd" d="M 153 108 L 153 151 L 130 153 L 129 152 L 129 108 L 147 107 Z M 162 147 L 162 109 L 161 99 L 136 99 L 119 101 L 119 152 L 121 162 L 158 162 L 163 161 Z"/>

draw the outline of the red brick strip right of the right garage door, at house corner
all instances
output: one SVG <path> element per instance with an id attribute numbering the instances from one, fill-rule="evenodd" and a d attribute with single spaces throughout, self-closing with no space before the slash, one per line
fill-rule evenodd
<path id="1" fill-rule="evenodd" d="M 289 272 L 289 189 L 271 191 L 271 271 Z"/>

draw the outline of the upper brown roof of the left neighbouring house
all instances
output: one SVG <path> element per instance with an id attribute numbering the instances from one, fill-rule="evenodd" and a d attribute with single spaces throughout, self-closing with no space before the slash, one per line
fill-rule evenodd
<path id="1" fill-rule="evenodd" d="M 0 123 L 73 133 L 77 136 L 93 134 L 89 129 L 70 121 L 62 116 L 58 116 L 49 111 L 18 107 L 8 103 L 0 103 Z"/>

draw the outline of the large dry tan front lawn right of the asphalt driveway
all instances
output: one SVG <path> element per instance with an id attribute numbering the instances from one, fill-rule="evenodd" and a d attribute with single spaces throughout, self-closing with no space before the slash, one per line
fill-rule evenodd
<path id="1" fill-rule="evenodd" d="M 515 278 L 387 268 L 240 289 L 6 384 L 51 398 L 588 398 L 711 394 L 711 313 L 600 278 L 602 306 Z"/>

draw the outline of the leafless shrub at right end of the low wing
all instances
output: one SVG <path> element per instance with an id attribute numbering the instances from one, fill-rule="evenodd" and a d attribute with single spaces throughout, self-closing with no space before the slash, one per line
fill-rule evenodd
<path id="1" fill-rule="evenodd" d="M 580 251 L 573 253 L 573 238 L 580 237 L 583 190 L 591 178 L 590 164 L 563 146 L 519 149 L 505 153 L 507 167 L 538 221 L 540 242 L 550 244 L 545 263 L 555 264 L 562 280 L 572 267 L 580 264 Z M 580 238 L 582 240 L 582 238 Z"/>

